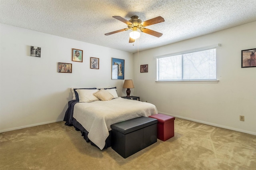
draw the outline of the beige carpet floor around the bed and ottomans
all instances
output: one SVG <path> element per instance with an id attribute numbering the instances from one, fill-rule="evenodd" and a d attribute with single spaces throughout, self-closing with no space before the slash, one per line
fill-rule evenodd
<path id="1" fill-rule="evenodd" d="M 175 136 L 124 159 L 64 122 L 0 134 L 1 170 L 256 170 L 256 136 L 175 120 Z"/>

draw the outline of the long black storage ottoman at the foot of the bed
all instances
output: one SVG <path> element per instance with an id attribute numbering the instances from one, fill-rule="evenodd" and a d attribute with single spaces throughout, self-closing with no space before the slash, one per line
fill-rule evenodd
<path id="1" fill-rule="evenodd" d="M 111 125 L 111 146 L 123 158 L 156 142 L 157 119 L 138 117 Z"/>

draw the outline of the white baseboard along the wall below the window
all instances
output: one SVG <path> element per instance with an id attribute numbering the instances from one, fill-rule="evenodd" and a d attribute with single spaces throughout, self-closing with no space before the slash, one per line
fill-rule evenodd
<path id="1" fill-rule="evenodd" d="M 214 123 L 198 121 L 198 120 L 195 120 L 195 119 L 189 119 L 189 118 L 181 117 L 181 116 L 177 116 L 177 115 L 170 115 L 168 113 L 162 113 L 162 112 L 158 112 L 158 113 L 161 113 L 161 114 L 164 114 L 164 115 L 169 115 L 169 116 L 172 116 L 172 117 L 178 117 L 180 119 L 185 119 L 185 120 L 188 120 L 188 121 L 193 121 L 193 122 L 203 123 L 203 124 L 206 124 L 206 125 L 211 125 L 211 126 L 214 126 L 214 127 L 226 128 L 226 129 L 229 129 L 229 130 L 235 130 L 235 131 L 238 131 L 238 132 L 243 132 L 243 133 L 256 135 L 256 132 L 250 132 L 250 131 L 246 131 L 246 130 L 242 130 L 242 129 L 238 129 L 238 128 L 226 127 L 226 126 L 222 126 L 222 125 L 218 125 L 218 124 L 214 124 Z"/>

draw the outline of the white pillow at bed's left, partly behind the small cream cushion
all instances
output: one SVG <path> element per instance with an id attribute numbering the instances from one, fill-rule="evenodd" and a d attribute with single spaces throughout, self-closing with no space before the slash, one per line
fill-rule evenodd
<path id="1" fill-rule="evenodd" d="M 97 92 L 98 89 L 77 89 L 79 102 L 92 102 L 99 100 L 97 97 L 93 95 L 93 93 Z"/>

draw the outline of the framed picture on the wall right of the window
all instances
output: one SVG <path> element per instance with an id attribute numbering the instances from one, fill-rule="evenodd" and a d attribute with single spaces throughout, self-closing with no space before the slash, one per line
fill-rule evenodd
<path id="1" fill-rule="evenodd" d="M 242 50 L 242 68 L 256 67 L 256 48 Z"/>

